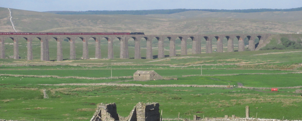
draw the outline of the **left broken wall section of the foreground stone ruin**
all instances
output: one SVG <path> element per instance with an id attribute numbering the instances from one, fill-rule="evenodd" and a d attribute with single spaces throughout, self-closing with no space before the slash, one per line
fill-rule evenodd
<path id="1" fill-rule="evenodd" d="M 97 104 L 96 112 L 90 121 L 119 121 L 115 103 Z"/>

